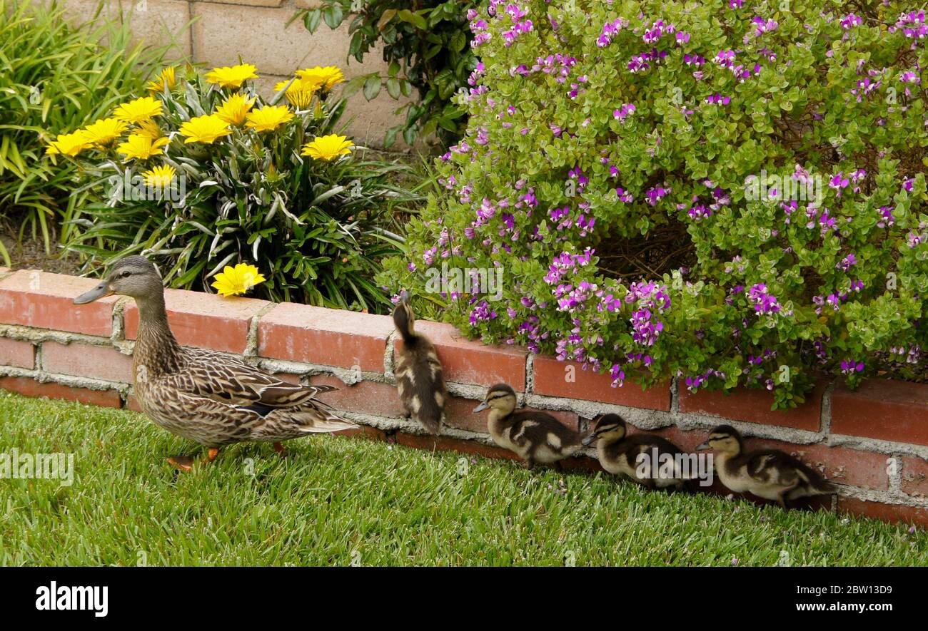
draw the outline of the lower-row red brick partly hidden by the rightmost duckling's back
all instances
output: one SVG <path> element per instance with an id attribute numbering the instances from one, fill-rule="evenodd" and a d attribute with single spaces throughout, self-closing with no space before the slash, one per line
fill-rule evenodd
<path id="1" fill-rule="evenodd" d="M 749 438 L 746 443 L 749 449 L 785 451 L 838 484 L 878 491 L 889 489 L 889 476 L 886 473 L 889 457 L 886 454 L 822 444 L 792 445 L 756 438 Z"/>

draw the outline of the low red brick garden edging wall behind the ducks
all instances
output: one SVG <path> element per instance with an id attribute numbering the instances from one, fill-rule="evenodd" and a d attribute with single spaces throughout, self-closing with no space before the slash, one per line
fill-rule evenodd
<path id="1" fill-rule="evenodd" d="M 71 304 L 95 284 L 0 269 L 0 388 L 137 410 L 135 305 L 116 297 Z M 577 365 L 520 347 L 486 346 L 448 325 L 418 322 L 438 350 L 453 395 L 442 435 L 432 437 L 402 419 L 393 379 L 393 350 L 402 342 L 389 317 L 177 290 L 168 290 L 165 300 L 181 344 L 242 356 L 290 381 L 338 386 L 323 397 L 362 424 L 353 434 L 511 458 L 493 446 L 485 413 L 471 412 L 487 385 L 506 382 L 525 405 L 581 430 L 600 413 L 618 412 L 636 428 L 692 449 L 713 426 L 732 424 L 749 437 L 749 448 L 791 452 L 834 481 L 836 501 L 820 508 L 928 525 L 928 385 L 874 380 L 852 392 L 822 380 L 803 406 L 771 411 L 766 391 L 690 394 L 676 380 L 647 392 L 631 384 L 612 388 L 607 376 Z M 151 431 L 160 430 L 152 425 Z M 568 466 L 599 469 L 588 457 Z M 721 486 L 709 490 L 727 493 Z"/>

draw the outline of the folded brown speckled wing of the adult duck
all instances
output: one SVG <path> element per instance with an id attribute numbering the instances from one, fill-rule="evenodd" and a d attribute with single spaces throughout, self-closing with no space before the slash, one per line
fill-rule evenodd
<path id="1" fill-rule="evenodd" d="M 290 408 L 317 394 L 338 389 L 330 385 L 290 384 L 237 357 L 200 348 L 185 350 L 185 370 L 162 377 L 161 387 L 222 403 L 259 403 L 268 408 Z"/>

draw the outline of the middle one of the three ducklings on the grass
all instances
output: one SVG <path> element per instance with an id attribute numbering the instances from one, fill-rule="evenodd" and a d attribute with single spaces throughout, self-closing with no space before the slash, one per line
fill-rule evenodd
<path id="1" fill-rule="evenodd" d="M 628 435 L 625 420 L 618 414 L 603 414 L 593 432 L 583 439 L 583 444 L 596 441 L 599 464 L 613 475 L 625 474 L 639 485 L 648 488 L 684 486 L 684 473 L 679 469 L 679 456 L 686 452 L 659 435 Z M 673 475 L 668 476 L 662 462 L 669 457 L 675 462 Z"/>

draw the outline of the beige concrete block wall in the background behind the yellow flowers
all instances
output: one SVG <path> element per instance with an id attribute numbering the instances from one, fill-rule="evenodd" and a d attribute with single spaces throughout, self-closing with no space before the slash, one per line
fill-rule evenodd
<path id="1" fill-rule="evenodd" d="M 43 0 L 45 4 L 50 0 Z M 92 19 L 100 0 L 58 0 L 75 23 Z M 239 57 L 258 68 L 259 92 L 270 95 L 274 84 L 297 69 L 338 66 L 347 79 L 369 72 L 386 76 L 380 49 L 364 63 L 347 60 L 349 20 L 335 31 L 323 22 L 316 33 L 302 20 L 287 26 L 300 8 L 314 8 L 313 0 L 103 0 L 101 16 L 129 25 L 135 42 L 171 44 L 172 60 L 187 59 L 207 69 L 231 66 Z M 343 120 L 356 143 L 381 146 L 386 130 L 402 120 L 394 114 L 406 101 L 394 101 L 386 90 L 372 101 L 357 93 L 349 99 Z M 402 141 L 400 141 L 402 142 Z M 405 145 L 397 148 L 408 148 Z"/>

